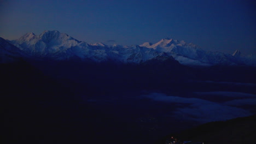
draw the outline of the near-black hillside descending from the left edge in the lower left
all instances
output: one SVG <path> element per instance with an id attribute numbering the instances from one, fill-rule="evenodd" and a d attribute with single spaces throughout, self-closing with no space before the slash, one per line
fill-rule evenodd
<path id="1" fill-rule="evenodd" d="M 0 71 L 0 143 L 97 143 L 98 137 L 110 143 L 120 137 L 113 135 L 120 125 L 112 116 L 88 107 L 72 87 L 24 62 L 1 64 Z"/>

